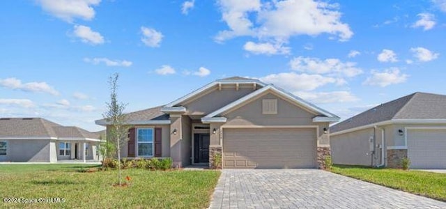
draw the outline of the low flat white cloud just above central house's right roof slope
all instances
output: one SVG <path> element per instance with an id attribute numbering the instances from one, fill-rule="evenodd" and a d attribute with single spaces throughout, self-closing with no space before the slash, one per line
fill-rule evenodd
<path id="1" fill-rule="evenodd" d="M 323 104 L 323 103 L 337 103 L 337 102 L 355 102 L 359 100 L 355 95 L 349 91 L 331 91 L 331 92 L 308 92 L 297 91 L 294 93 L 304 100 L 309 102 Z"/>

